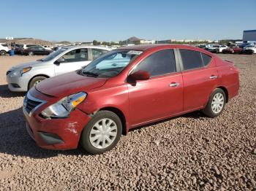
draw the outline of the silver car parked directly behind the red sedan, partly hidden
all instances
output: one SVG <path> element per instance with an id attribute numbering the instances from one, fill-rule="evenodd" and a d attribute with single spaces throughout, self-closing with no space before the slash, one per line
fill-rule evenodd
<path id="1" fill-rule="evenodd" d="M 23 63 L 7 71 L 9 90 L 26 92 L 48 77 L 81 69 L 109 48 L 96 46 L 69 46 L 52 52 L 41 60 Z"/>

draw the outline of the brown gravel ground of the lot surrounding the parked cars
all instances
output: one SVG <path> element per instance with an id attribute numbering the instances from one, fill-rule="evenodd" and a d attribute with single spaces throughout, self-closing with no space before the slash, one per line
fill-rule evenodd
<path id="1" fill-rule="evenodd" d="M 24 93 L 7 90 L 5 73 L 41 57 L 0 57 L 0 190 L 256 190 L 256 55 L 219 56 L 241 80 L 221 116 L 193 112 L 138 128 L 104 155 L 37 147 Z"/>

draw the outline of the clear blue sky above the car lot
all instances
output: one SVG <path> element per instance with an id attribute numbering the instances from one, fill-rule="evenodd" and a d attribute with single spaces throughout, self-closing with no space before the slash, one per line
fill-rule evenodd
<path id="1" fill-rule="evenodd" d="M 256 29 L 256 0 L 6 0 L 0 10 L 0 38 L 216 40 Z"/>

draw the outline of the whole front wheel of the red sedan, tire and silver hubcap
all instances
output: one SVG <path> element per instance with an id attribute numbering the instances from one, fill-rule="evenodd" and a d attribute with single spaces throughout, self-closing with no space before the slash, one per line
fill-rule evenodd
<path id="1" fill-rule="evenodd" d="M 83 129 L 80 144 L 91 154 L 101 154 L 116 146 L 121 132 L 121 120 L 115 113 L 99 111 Z"/>

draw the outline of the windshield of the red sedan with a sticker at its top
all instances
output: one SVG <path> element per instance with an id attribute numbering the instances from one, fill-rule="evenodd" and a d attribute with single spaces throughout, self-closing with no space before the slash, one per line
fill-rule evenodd
<path id="1" fill-rule="evenodd" d="M 89 63 L 80 73 L 88 77 L 115 77 L 141 53 L 134 50 L 112 50 Z"/>

